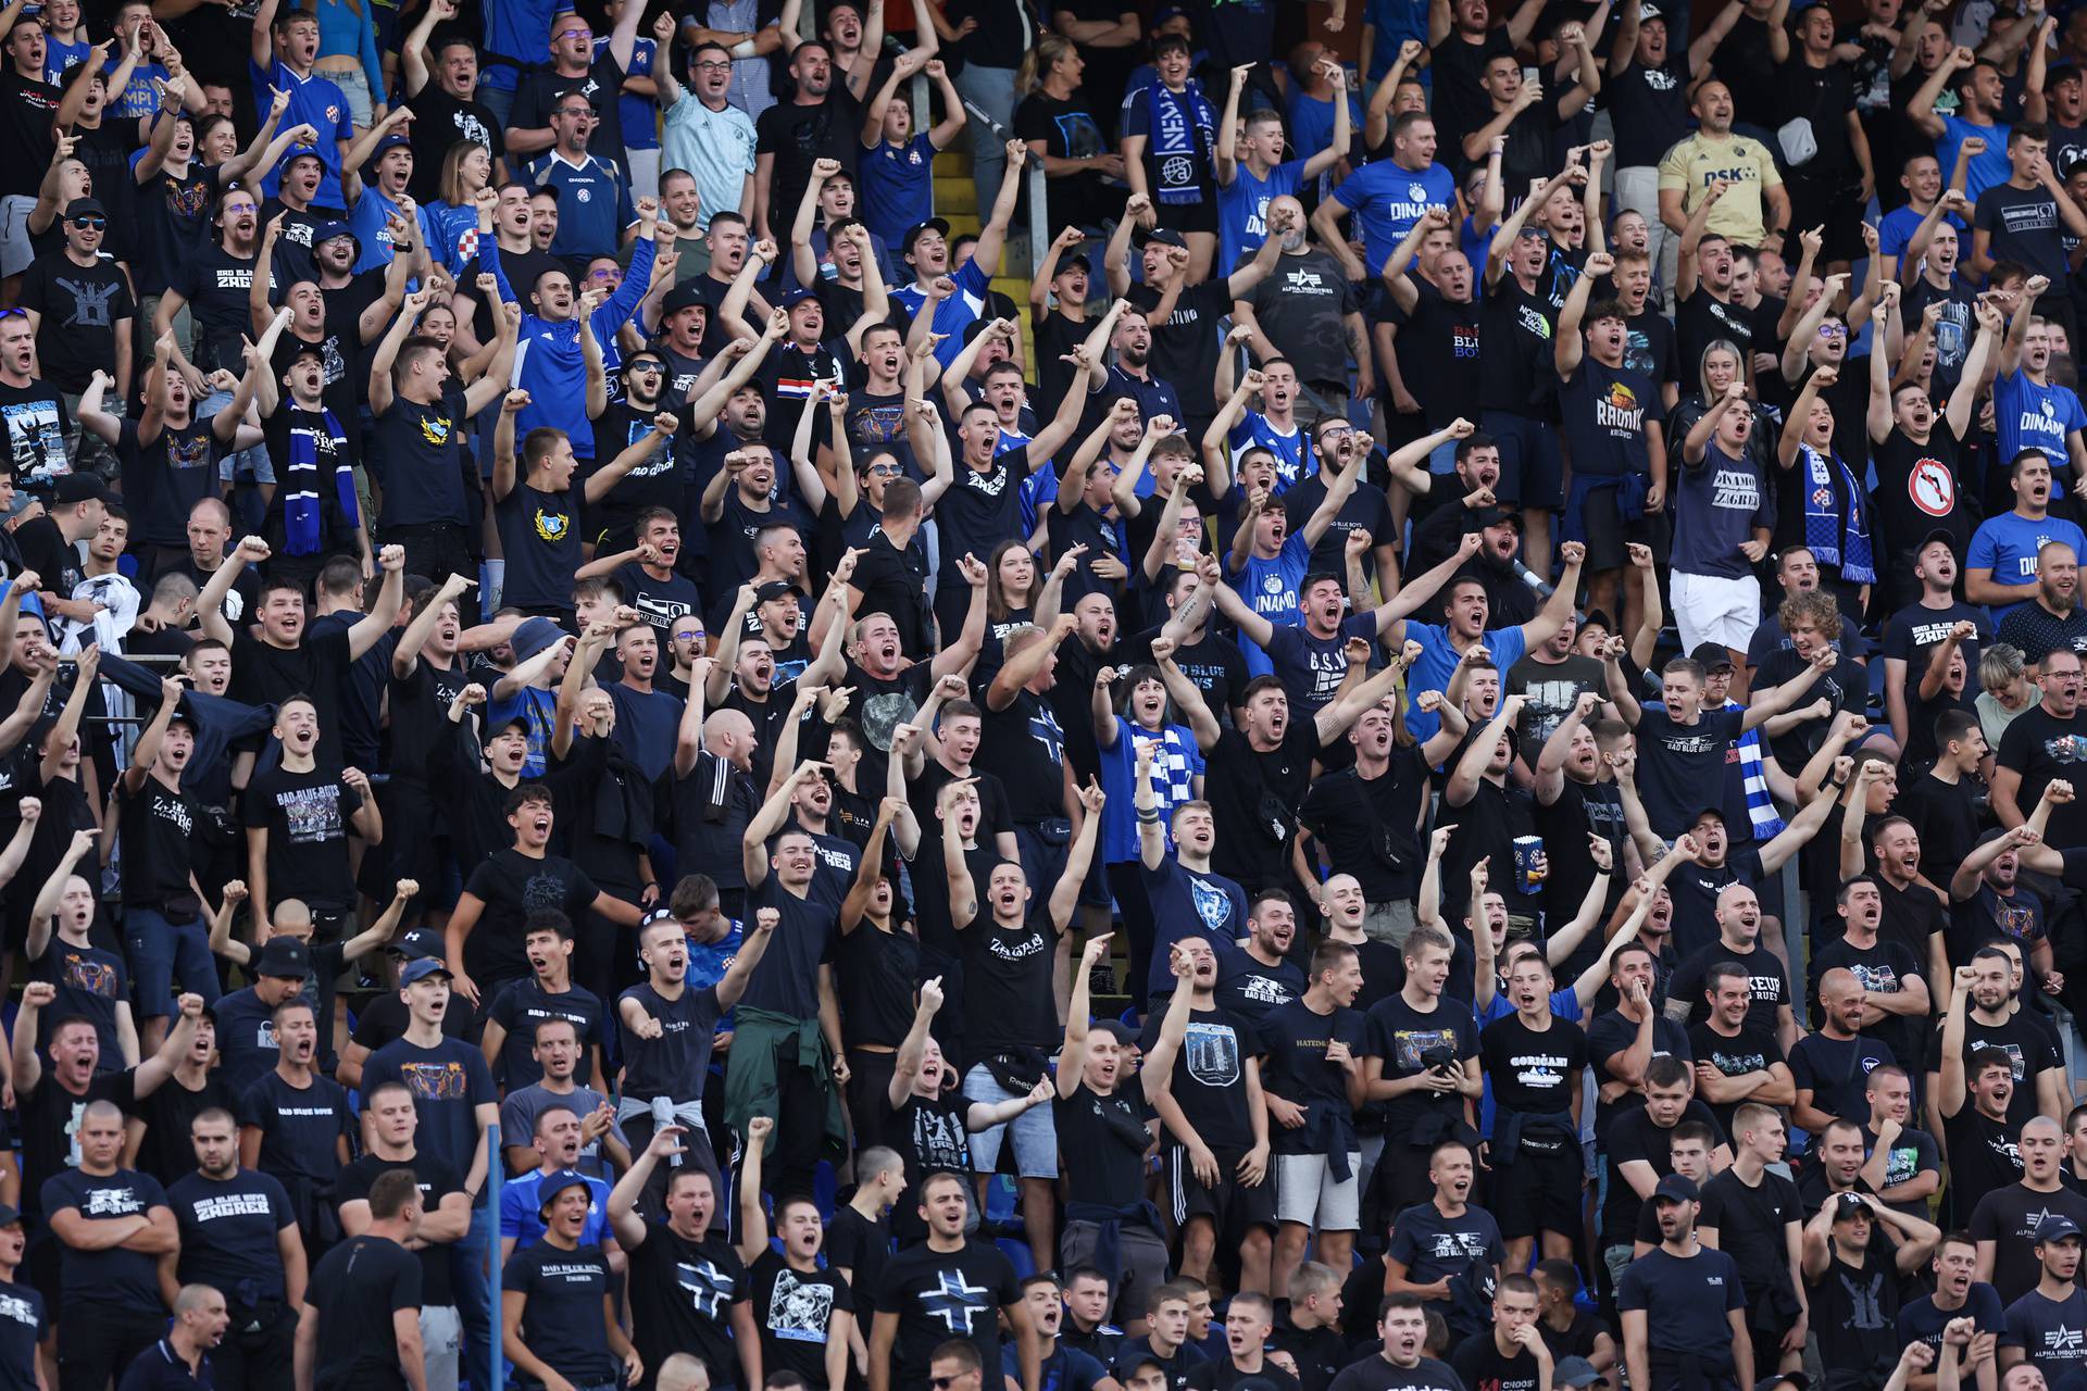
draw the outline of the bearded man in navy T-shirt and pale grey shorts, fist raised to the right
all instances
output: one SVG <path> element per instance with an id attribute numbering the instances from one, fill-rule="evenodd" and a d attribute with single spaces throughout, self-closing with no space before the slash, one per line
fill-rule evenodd
<path id="1" fill-rule="evenodd" d="M 753 930 L 747 932 L 724 976 L 699 991 L 689 989 L 689 934 L 680 922 L 664 916 L 639 934 L 645 980 L 616 997 L 624 1057 L 622 1105 L 616 1118 L 624 1124 L 632 1147 L 649 1145 L 668 1128 L 689 1137 L 689 1143 L 676 1141 L 662 1151 L 670 1162 L 668 1172 L 647 1195 L 647 1205 L 653 1210 L 682 1168 L 693 1166 L 712 1176 L 718 1172 L 703 1120 L 712 1034 L 718 1020 L 745 995 L 753 968 L 768 953 L 776 922 L 774 911 L 758 913 Z M 689 1164 L 682 1155 L 689 1155 Z M 651 1164 L 645 1168 L 653 1172 Z"/>

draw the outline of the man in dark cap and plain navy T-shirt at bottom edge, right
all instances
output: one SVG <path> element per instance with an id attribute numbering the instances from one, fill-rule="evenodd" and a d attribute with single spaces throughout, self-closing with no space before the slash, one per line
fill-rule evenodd
<path id="1" fill-rule="evenodd" d="M 1695 1182 L 1680 1174 L 1659 1180 L 1651 1197 L 1659 1247 L 1630 1262 L 1615 1287 L 1630 1385 L 1645 1391 L 1753 1385 L 1738 1264 L 1697 1241 L 1701 1199 Z"/>

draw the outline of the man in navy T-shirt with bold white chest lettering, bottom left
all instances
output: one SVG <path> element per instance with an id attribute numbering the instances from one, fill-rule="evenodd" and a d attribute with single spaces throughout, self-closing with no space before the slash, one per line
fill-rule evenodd
<path id="1" fill-rule="evenodd" d="M 305 1303 L 305 1241 L 290 1195 L 240 1166 L 232 1114 L 211 1107 L 190 1122 L 196 1170 L 167 1187 L 182 1228 L 182 1258 L 159 1270 L 161 1295 L 182 1333 L 182 1285 L 223 1295 L 230 1326 L 211 1370 L 225 1387 L 288 1391 L 296 1310 Z M 179 1280 L 179 1283 L 175 1283 Z"/>

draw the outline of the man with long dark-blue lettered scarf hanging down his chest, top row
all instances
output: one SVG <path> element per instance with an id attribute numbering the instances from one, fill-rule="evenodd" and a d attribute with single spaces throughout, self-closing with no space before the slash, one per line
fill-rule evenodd
<path id="1" fill-rule="evenodd" d="M 1217 111 L 1190 79 L 1190 63 L 1179 33 L 1152 44 L 1158 81 L 1123 98 L 1123 175 L 1152 200 L 1158 225 L 1188 240 L 1188 284 L 1200 286 L 1217 257 Z"/>

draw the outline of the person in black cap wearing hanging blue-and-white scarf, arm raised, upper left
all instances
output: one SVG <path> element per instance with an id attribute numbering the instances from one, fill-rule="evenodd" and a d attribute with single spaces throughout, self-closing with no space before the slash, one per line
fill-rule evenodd
<path id="1" fill-rule="evenodd" d="M 273 361 L 275 340 L 288 323 L 290 311 L 284 309 L 255 344 L 257 363 Z M 369 523 L 355 496 L 349 436 L 323 400 L 326 344 L 296 340 L 280 377 L 257 375 L 255 405 L 275 465 L 275 494 L 261 519 L 269 578 L 290 578 L 309 590 L 336 555 L 353 555 L 365 574 L 376 574 Z"/>

